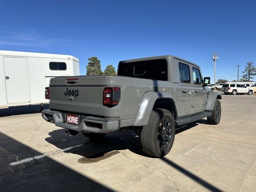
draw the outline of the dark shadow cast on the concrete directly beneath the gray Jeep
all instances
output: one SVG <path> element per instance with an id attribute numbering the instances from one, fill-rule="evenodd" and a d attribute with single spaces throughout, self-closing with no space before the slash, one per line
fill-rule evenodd
<path id="1" fill-rule="evenodd" d="M 176 126 L 176 134 L 179 134 L 190 128 L 194 128 L 197 125 L 198 123 L 194 122 L 184 126 Z M 149 156 L 148 154 L 146 154 L 146 152 L 144 152 L 141 146 L 140 137 L 136 136 L 134 134 L 134 131 L 132 130 L 128 130 L 126 132 L 110 132 L 106 134 L 106 136 L 103 137 L 102 140 L 99 141 L 90 140 L 90 138 L 87 138 L 82 133 L 79 133 L 76 136 L 65 136 L 65 130 L 66 129 L 58 129 L 49 132 L 48 134 L 50 137 L 45 138 L 45 140 L 48 143 L 56 146 L 57 148 L 60 148 L 61 150 L 65 150 L 70 146 L 78 145 L 77 147 L 72 148 L 71 150 L 67 150 L 65 152 L 79 154 L 80 156 L 88 159 L 98 158 L 97 161 L 100 160 L 100 157 L 102 157 L 102 160 L 105 159 L 106 157 L 104 156 L 104 154 L 106 153 L 115 150 L 119 151 L 126 149 L 140 156 L 155 158 Z M 91 160 L 91 162 L 93 161 L 94 160 Z M 90 162 L 90 160 L 88 160 L 87 162 Z"/>

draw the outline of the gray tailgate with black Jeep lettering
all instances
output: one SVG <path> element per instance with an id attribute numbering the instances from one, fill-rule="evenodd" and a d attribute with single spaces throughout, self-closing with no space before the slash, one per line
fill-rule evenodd
<path id="1" fill-rule="evenodd" d="M 104 116 L 104 76 L 52 78 L 50 108 Z"/>

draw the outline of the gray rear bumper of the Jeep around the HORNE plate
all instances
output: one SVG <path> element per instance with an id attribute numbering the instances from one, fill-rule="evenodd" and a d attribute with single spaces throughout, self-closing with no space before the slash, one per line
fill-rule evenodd
<path id="1" fill-rule="evenodd" d="M 42 117 L 44 118 L 44 120 L 54 123 L 58 127 L 76 130 L 80 132 L 107 133 L 118 130 L 120 127 L 120 120 L 118 119 L 108 120 L 105 118 L 82 115 L 78 115 L 78 126 L 71 125 L 66 123 L 66 116 L 67 113 L 54 111 L 50 109 L 42 111 Z"/>

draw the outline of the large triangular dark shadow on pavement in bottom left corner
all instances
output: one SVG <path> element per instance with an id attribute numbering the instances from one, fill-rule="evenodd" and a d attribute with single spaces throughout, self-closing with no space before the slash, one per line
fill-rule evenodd
<path id="1" fill-rule="evenodd" d="M 0 191 L 112 191 L 48 156 L 34 158 L 41 155 L 0 132 Z"/>

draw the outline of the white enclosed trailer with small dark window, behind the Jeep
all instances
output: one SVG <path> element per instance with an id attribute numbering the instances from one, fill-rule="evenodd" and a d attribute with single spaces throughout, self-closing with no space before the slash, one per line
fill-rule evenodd
<path id="1" fill-rule="evenodd" d="M 0 50 L 0 108 L 42 106 L 51 78 L 76 75 L 79 60 L 70 55 Z"/>

